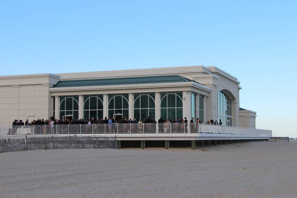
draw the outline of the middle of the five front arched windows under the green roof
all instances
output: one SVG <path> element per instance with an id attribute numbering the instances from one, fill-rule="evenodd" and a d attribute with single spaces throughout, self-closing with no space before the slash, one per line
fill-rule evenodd
<path id="1" fill-rule="evenodd" d="M 108 117 L 113 118 L 114 114 L 122 114 L 122 118 L 129 118 L 129 95 L 108 94 Z"/>

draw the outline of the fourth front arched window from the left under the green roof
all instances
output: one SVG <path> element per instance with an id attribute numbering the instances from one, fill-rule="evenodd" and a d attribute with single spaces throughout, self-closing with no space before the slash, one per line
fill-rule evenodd
<path id="1" fill-rule="evenodd" d="M 135 93 L 134 94 L 134 118 L 147 117 L 155 118 L 155 93 Z"/>

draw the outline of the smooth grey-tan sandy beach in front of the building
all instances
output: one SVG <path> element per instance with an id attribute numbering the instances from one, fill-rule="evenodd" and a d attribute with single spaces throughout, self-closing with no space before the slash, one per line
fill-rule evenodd
<path id="1" fill-rule="evenodd" d="M 297 197 L 297 143 L 0 153 L 0 197 Z"/>

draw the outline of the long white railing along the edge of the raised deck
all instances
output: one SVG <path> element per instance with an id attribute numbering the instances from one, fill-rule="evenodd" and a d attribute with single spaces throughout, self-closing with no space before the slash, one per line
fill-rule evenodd
<path id="1" fill-rule="evenodd" d="M 0 134 L 186 134 L 199 136 L 272 136 L 271 130 L 203 123 L 0 126 Z"/>

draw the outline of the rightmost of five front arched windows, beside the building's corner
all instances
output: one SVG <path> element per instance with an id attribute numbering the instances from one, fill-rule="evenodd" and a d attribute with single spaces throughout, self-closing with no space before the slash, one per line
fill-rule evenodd
<path id="1" fill-rule="evenodd" d="M 161 117 L 163 119 L 183 118 L 183 93 L 161 92 Z"/>

